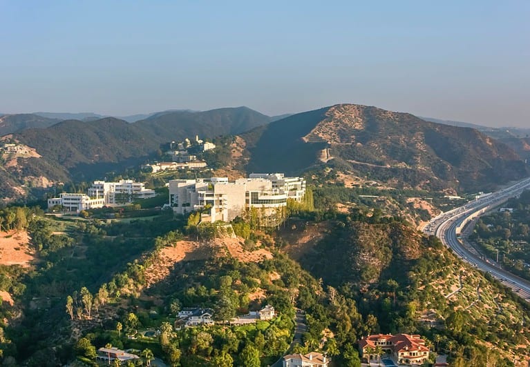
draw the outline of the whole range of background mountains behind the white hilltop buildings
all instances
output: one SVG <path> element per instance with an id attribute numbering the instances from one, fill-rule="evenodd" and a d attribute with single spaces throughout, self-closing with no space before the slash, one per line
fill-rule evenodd
<path id="1" fill-rule="evenodd" d="M 16 197 L 22 185 L 101 178 L 105 172 L 143 163 L 163 143 L 196 135 L 240 135 L 247 172 L 300 174 L 332 166 L 390 186 L 399 181 L 434 190 L 488 188 L 530 173 L 513 150 L 524 152 L 528 142 L 512 141 L 509 148 L 472 128 L 368 106 L 342 104 L 285 118 L 246 107 L 164 111 L 134 123 L 114 117 L 50 118 L 60 115 L 0 117 L 1 134 L 18 129 L 4 141 L 35 148 L 40 156 L 19 157 L 3 168 L 3 197 Z"/>

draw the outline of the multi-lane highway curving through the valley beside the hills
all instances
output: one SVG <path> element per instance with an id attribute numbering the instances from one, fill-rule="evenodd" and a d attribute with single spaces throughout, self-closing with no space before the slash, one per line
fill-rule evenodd
<path id="1" fill-rule="evenodd" d="M 503 270 L 495 261 L 484 259 L 471 246 L 466 246 L 466 240 L 460 239 L 460 231 L 473 218 L 482 215 L 484 212 L 500 206 L 511 197 L 520 195 L 525 190 L 530 189 L 530 178 L 518 181 L 516 184 L 493 192 L 489 195 L 482 195 L 478 199 L 469 201 L 464 206 L 455 208 L 430 220 L 425 226 L 424 232 L 427 235 L 436 235 L 442 243 L 453 249 L 456 255 L 462 260 L 471 264 L 477 269 L 489 272 L 493 277 L 502 282 L 505 286 L 517 292 L 520 297 L 530 301 L 530 281 L 513 275 L 507 270 Z"/>

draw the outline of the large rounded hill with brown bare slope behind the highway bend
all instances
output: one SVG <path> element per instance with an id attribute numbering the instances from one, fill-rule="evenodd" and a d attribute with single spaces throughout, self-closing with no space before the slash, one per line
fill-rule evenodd
<path id="1" fill-rule="evenodd" d="M 390 186 L 464 191 L 530 173 L 511 148 L 477 130 L 368 106 L 303 112 L 241 137 L 249 172 L 294 174 L 327 163 Z"/>

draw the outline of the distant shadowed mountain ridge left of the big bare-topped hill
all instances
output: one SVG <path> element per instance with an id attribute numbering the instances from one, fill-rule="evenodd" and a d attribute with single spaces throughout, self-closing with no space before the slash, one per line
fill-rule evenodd
<path id="1" fill-rule="evenodd" d="M 0 180 L 7 184 L 1 195 L 6 199 L 19 197 L 24 185 L 39 187 L 40 181 L 53 184 L 102 178 L 106 172 L 138 166 L 171 140 L 238 134 L 268 121 L 269 117 L 241 107 L 166 111 L 136 123 L 106 117 L 28 128 L 4 139 L 32 148 L 39 157 L 17 157 L 11 166 L 0 171 Z M 28 177 L 35 177 L 31 184 Z"/>

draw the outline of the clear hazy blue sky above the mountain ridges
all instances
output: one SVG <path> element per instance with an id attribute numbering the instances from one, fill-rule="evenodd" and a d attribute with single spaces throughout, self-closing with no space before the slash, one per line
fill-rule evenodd
<path id="1" fill-rule="evenodd" d="M 530 1 L 0 0 L 0 112 L 361 103 L 530 127 Z"/>

